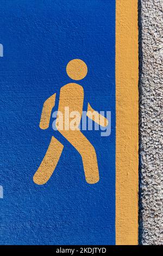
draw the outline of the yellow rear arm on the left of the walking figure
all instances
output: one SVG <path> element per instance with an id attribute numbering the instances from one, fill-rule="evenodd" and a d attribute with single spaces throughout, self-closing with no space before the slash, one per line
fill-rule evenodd
<path id="1" fill-rule="evenodd" d="M 55 106 L 55 96 L 54 93 L 51 97 L 49 97 L 44 103 L 41 113 L 40 119 L 40 129 L 45 130 L 49 127 L 49 122 L 51 119 L 52 108 Z"/>

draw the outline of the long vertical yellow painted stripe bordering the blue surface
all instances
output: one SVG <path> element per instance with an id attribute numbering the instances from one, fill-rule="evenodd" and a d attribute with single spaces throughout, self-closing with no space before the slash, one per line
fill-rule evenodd
<path id="1" fill-rule="evenodd" d="M 116 245 L 138 243 L 137 0 L 116 0 Z"/>

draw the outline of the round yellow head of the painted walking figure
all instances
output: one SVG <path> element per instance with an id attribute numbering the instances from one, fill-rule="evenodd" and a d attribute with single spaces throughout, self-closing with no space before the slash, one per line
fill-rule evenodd
<path id="1" fill-rule="evenodd" d="M 66 66 L 67 75 L 73 80 L 82 80 L 87 74 L 87 65 L 82 59 L 72 59 Z"/>

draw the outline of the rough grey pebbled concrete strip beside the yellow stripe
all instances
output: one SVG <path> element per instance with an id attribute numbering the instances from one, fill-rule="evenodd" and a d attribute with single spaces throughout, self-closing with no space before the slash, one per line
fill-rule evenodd
<path id="1" fill-rule="evenodd" d="M 139 0 L 139 243 L 163 244 L 163 0 Z"/>

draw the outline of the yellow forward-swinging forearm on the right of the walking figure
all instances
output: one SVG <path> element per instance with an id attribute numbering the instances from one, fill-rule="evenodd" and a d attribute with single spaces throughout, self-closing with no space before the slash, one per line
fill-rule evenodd
<path id="1" fill-rule="evenodd" d="M 108 125 L 108 119 L 105 118 L 103 115 L 99 114 L 97 111 L 95 111 L 90 103 L 87 105 L 87 112 L 86 112 L 87 117 L 92 119 L 95 123 L 98 125 L 101 125 L 103 127 L 106 127 Z"/>

